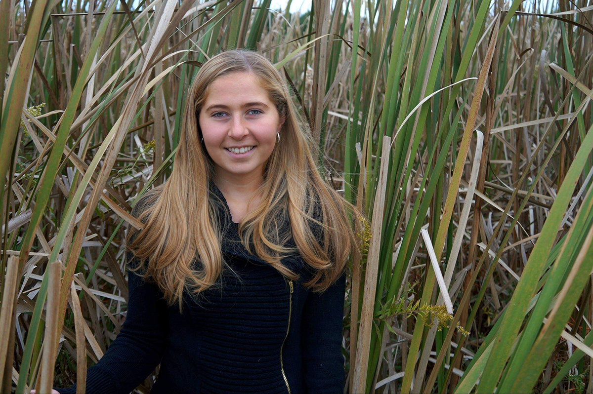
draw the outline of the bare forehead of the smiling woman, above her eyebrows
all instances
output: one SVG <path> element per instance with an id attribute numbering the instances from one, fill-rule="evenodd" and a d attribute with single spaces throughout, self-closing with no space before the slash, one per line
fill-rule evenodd
<path id="1" fill-rule="evenodd" d="M 266 89 L 251 73 L 235 72 L 219 76 L 206 89 L 206 105 L 241 105 L 249 101 L 269 102 Z"/>

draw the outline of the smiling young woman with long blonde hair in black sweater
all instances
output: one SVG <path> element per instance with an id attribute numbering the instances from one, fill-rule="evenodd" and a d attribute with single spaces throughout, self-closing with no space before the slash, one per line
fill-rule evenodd
<path id="1" fill-rule="evenodd" d="M 173 172 L 132 211 L 145 227 L 126 237 L 126 321 L 88 393 L 129 393 L 158 364 L 152 393 L 343 393 L 362 216 L 313 149 L 269 60 L 228 50 L 203 64 Z"/>

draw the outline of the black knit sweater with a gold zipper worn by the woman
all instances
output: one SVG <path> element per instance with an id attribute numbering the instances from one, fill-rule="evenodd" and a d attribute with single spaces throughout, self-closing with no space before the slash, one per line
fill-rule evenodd
<path id="1" fill-rule="evenodd" d="M 211 181 L 229 268 L 183 312 L 167 306 L 154 283 L 128 270 L 122 330 L 87 372 L 87 393 L 129 393 L 160 364 L 152 393 L 343 393 L 342 318 L 346 275 L 326 292 L 302 287 L 311 271 L 299 254 L 282 262 L 301 274 L 286 280 L 248 254 L 237 223 Z M 294 244 L 291 244 L 294 246 Z M 138 258 L 126 253 L 128 268 Z M 238 276 L 238 277 L 237 277 Z M 57 389 L 75 393 L 76 386 Z"/>

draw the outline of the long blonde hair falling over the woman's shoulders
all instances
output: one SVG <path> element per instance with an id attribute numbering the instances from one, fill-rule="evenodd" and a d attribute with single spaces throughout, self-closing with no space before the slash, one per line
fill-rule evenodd
<path id="1" fill-rule="evenodd" d="M 299 115 L 285 79 L 259 53 L 227 50 L 197 72 L 187 94 L 171 176 L 146 192 L 132 210 L 145 224 L 144 229 L 130 227 L 127 233 L 127 250 L 142 261 L 130 269 L 144 268 L 144 277 L 158 284 L 169 305 L 178 300 L 180 309 L 184 289 L 195 294 L 208 289 L 226 264 L 215 202 L 208 197 L 214 165 L 200 143 L 198 116 L 209 84 L 233 72 L 254 75 L 269 92 L 280 118 L 285 118 L 282 137 L 264 166 L 259 206 L 238 225 L 247 251 L 283 276 L 297 280 L 299 275 L 280 262 L 280 254 L 289 250 L 283 247 L 286 238 L 277 234 L 281 227 L 278 219 L 284 218 L 303 260 L 313 268 L 311 279 L 303 286 L 314 292 L 323 292 L 341 276 L 351 254 L 360 257 L 356 234 L 362 227 L 362 214 L 330 187 L 315 167 L 310 129 Z M 352 213 L 352 226 L 348 212 Z M 314 232 L 307 220 L 321 230 Z M 195 267 L 196 259 L 200 264 Z"/>

